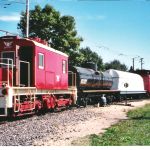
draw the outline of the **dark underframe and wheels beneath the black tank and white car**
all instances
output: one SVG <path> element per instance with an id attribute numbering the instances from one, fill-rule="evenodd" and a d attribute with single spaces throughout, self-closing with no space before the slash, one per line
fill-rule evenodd
<path id="1" fill-rule="evenodd" d="M 149 98 L 149 94 L 146 92 L 131 92 L 131 91 L 119 91 L 119 90 L 83 90 L 78 92 L 77 105 L 86 107 L 87 104 L 100 104 L 104 106 L 102 96 L 106 97 L 106 103 L 111 104 L 113 102 L 139 100 Z"/>

